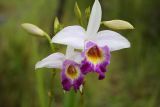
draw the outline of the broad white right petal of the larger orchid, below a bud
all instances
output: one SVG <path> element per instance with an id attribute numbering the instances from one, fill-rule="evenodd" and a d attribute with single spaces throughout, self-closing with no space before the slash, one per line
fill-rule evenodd
<path id="1" fill-rule="evenodd" d="M 125 37 L 111 30 L 104 30 L 99 32 L 96 38 L 94 38 L 94 41 L 99 46 L 107 45 L 110 48 L 110 51 L 130 47 L 130 42 Z"/>

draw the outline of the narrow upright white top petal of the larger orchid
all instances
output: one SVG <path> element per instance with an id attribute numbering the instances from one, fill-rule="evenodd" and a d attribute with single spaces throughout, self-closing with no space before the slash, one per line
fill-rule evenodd
<path id="1" fill-rule="evenodd" d="M 95 0 L 87 27 L 88 37 L 94 36 L 97 33 L 100 27 L 101 17 L 102 17 L 101 5 L 98 0 Z"/>

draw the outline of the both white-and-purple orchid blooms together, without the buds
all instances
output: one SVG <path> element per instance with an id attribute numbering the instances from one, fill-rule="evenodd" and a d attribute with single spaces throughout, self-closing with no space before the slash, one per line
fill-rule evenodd
<path id="1" fill-rule="evenodd" d="M 79 90 L 83 86 L 85 75 L 90 72 L 96 72 L 99 80 L 104 79 L 110 64 L 110 52 L 129 48 L 130 42 L 111 30 L 98 32 L 101 17 L 101 5 L 95 0 L 87 30 L 78 25 L 63 28 L 52 38 L 52 42 L 67 45 L 66 54 L 53 53 L 39 61 L 36 68 L 61 69 L 61 83 L 65 91 L 72 87 L 75 91 Z"/>

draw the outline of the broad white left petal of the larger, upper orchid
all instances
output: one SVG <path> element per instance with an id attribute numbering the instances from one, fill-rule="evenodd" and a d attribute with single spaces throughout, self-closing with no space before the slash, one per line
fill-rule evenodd
<path id="1" fill-rule="evenodd" d="M 68 26 L 57 33 L 53 38 L 53 43 L 65 44 L 77 49 L 83 49 L 85 30 L 80 26 Z"/>

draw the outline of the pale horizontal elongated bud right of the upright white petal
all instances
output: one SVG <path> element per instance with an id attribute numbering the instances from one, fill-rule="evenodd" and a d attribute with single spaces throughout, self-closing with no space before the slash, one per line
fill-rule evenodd
<path id="1" fill-rule="evenodd" d="M 102 24 L 104 24 L 108 28 L 115 30 L 134 29 L 133 25 L 124 20 L 103 21 Z"/>

